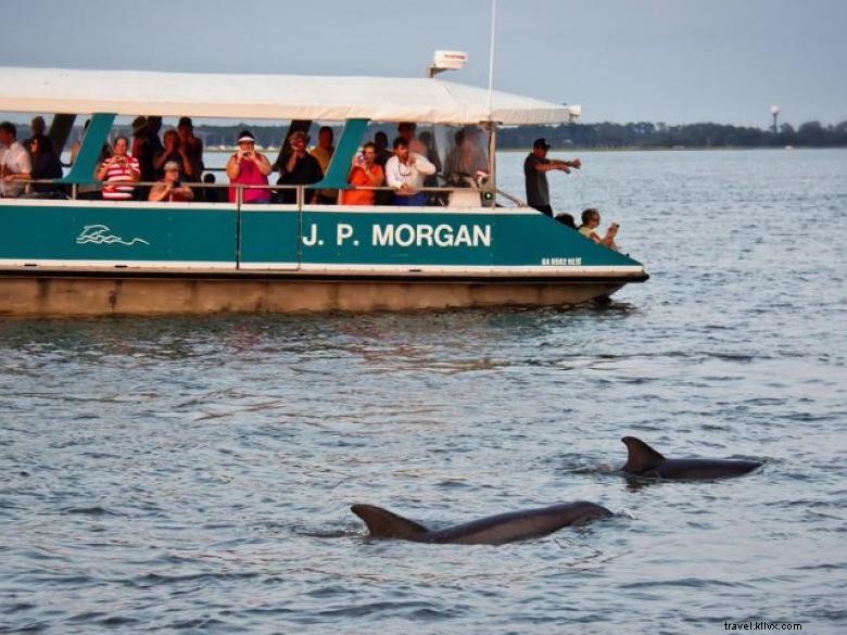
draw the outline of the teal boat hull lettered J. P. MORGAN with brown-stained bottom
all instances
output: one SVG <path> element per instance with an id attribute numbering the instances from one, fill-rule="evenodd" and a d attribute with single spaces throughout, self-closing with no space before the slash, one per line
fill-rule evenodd
<path id="1" fill-rule="evenodd" d="M 0 314 L 573 305 L 641 263 L 528 208 L 0 201 Z"/>

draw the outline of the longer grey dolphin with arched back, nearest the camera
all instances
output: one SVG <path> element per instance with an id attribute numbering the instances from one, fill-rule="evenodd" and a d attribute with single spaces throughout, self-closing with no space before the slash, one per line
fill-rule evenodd
<path id="1" fill-rule="evenodd" d="M 498 513 L 443 530 L 428 530 L 381 507 L 356 504 L 350 509 L 365 521 L 370 531 L 368 537 L 457 545 L 502 545 L 536 538 L 564 526 L 585 524 L 611 516 L 611 511 L 605 507 L 579 500 Z"/>

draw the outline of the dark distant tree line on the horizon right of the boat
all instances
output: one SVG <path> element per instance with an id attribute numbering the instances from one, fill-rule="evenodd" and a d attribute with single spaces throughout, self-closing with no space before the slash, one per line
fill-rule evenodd
<path id="1" fill-rule="evenodd" d="M 721 124 L 668 126 L 647 122 L 604 122 L 552 127 L 522 126 L 501 128 L 497 131 L 497 147 L 529 149 L 539 137 L 544 137 L 554 148 L 836 148 L 847 145 L 847 122 L 837 126 L 807 122 L 796 130 L 791 124 L 782 124 L 776 134 L 772 129 Z"/>

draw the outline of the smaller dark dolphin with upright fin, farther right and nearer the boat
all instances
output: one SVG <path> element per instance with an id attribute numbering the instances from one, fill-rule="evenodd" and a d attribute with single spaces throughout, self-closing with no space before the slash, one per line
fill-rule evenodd
<path id="1" fill-rule="evenodd" d="M 741 459 L 668 459 L 634 436 L 621 439 L 630 456 L 623 471 L 644 479 L 725 479 L 751 472 L 761 463 Z"/>

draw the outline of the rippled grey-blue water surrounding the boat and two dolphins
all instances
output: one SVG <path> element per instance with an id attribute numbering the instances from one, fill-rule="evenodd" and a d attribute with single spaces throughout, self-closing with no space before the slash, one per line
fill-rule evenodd
<path id="1" fill-rule="evenodd" d="M 845 632 L 847 152 L 581 157 L 556 206 L 653 276 L 604 309 L 2 322 L 0 632 Z M 766 465 L 639 486 L 627 434 Z"/>

